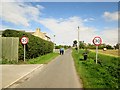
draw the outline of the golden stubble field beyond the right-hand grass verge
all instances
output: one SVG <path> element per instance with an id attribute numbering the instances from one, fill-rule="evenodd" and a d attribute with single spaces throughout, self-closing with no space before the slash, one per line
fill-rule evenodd
<path id="1" fill-rule="evenodd" d="M 90 51 L 95 52 L 95 50 L 90 50 Z M 120 55 L 120 52 L 118 50 L 106 50 L 106 51 L 98 50 L 98 53 L 109 55 L 109 56 L 115 56 L 115 57 L 118 57 Z"/>

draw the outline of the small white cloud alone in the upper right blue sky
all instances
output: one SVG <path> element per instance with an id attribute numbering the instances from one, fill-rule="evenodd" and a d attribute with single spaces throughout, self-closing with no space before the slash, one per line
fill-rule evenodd
<path id="1" fill-rule="evenodd" d="M 117 21 L 118 20 L 118 12 L 104 12 L 103 17 L 107 21 Z"/>

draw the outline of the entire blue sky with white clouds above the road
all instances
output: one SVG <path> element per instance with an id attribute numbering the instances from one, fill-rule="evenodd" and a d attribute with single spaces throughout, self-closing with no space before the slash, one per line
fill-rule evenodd
<path id="1" fill-rule="evenodd" d="M 117 2 L 1 2 L 0 6 L 0 30 L 40 28 L 57 45 L 72 45 L 79 26 L 80 41 L 92 44 L 100 36 L 102 43 L 113 46 L 118 42 L 118 20 Z"/>

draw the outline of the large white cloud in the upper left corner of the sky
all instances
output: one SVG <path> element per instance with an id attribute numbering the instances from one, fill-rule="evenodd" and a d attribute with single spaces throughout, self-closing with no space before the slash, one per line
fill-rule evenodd
<path id="1" fill-rule="evenodd" d="M 37 20 L 42 6 L 32 6 L 30 3 L 2 3 L 0 17 L 16 25 L 29 26 L 30 20 Z"/>

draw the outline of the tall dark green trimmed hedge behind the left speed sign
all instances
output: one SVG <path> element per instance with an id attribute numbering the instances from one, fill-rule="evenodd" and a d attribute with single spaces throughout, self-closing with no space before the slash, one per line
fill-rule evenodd
<path id="1" fill-rule="evenodd" d="M 40 55 L 45 55 L 47 53 L 53 52 L 54 44 L 52 42 L 33 36 L 30 33 L 11 29 L 7 29 L 2 33 L 2 37 L 19 37 L 19 40 L 21 39 L 22 36 L 26 36 L 29 38 L 29 42 L 26 45 L 26 59 L 35 58 Z M 18 56 L 19 60 L 23 60 L 24 58 L 23 45 L 20 42 Z"/>

